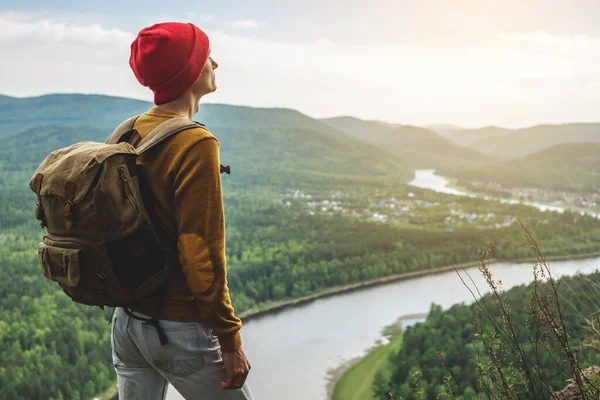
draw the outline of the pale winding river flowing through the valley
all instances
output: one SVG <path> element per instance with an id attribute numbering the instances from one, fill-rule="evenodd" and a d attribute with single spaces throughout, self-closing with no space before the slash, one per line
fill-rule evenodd
<path id="1" fill-rule="evenodd" d="M 453 189 L 445 188 L 447 181 L 433 172 L 417 172 L 417 179 L 422 180 L 411 182 L 415 186 L 465 194 L 450 193 Z M 600 257 L 557 261 L 550 266 L 555 276 L 590 273 L 600 268 Z M 484 279 L 476 268 L 468 271 L 483 293 L 487 288 Z M 531 263 L 495 263 L 492 271 L 502 279 L 504 289 L 533 280 Z M 381 330 L 399 316 L 426 313 L 431 303 L 448 308 L 472 301 L 456 273 L 446 272 L 317 299 L 257 317 L 242 328 L 244 350 L 252 363 L 247 382 L 256 400 L 325 400 L 328 372 L 364 355 L 381 340 Z M 182 397 L 170 387 L 167 399 Z"/>

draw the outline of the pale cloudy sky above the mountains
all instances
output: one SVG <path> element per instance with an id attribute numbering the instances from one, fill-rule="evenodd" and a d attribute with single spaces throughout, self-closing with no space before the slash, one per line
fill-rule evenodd
<path id="1" fill-rule="evenodd" d="M 211 41 L 203 102 L 400 124 L 600 121 L 598 0 L 0 2 L 0 94 L 152 100 L 130 44 L 156 22 Z"/>

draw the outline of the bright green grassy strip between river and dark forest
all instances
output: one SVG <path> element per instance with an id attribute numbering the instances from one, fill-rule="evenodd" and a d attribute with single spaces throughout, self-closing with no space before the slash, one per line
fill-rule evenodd
<path id="1" fill-rule="evenodd" d="M 402 346 L 402 333 L 398 327 L 386 332 L 390 342 L 371 351 L 365 358 L 354 364 L 335 385 L 333 400 L 373 400 L 371 385 L 377 371 L 389 378 L 392 365 L 388 361 L 390 354 Z"/>

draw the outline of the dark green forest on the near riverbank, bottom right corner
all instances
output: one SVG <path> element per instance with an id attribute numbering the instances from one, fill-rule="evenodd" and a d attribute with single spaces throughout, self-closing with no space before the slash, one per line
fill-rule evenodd
<path id="1" fill-rule="evenodd" d="M 576 371 L 598 365 L 591 321 L 600 274 L 553 283 L 539 278 L 504 293 L 475 294 L 471 305 L 442 310 L 432 304 L 426 321 L 404 332 L 401 349 L 390 357 L 390 378 L 377 373 L 374 398 L 550 399 Z M 577 398 L 600 395 L 597 380 L 582 386 L 589 392 Z"/>

